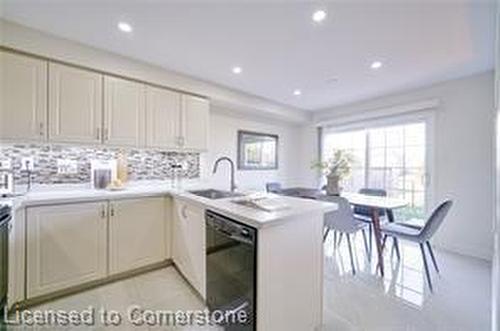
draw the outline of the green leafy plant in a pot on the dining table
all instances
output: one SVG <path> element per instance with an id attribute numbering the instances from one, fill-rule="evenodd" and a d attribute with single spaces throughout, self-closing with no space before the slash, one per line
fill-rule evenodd
<path id="1" fill-rule="evenodd" d="M 312 168 L 318 169 L 326 176 L 326 194 L 339 195 L 340 181 L 351 175 L 354 157 L 346 150 L 338 149 L 328 161 L 317 161 Z"/>

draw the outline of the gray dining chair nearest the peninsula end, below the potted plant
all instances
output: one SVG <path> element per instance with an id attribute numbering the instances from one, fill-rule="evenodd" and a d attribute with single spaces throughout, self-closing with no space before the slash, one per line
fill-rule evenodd
<path id="1" fill-rule="evenodd" d="M 338 209 L 325 214 L 325 233 L 323 235 L 323 242 L 328 237 L 330 231 L 345 234 L 347 237 L 347 245 L 349 248 L 349 257 L 351 259 L 352 274 L 356 274 L 356 268 L 354 267 L 354 257 L 352 253 L 352 242 L 351 235 L 361 231 L 363 234 L 363 241 L 365 244 L 366 254 L 368 255 L 368 243 L 366 240 L 365 228 L 367 224 L 365 222 L 358 221 L 354 218 L 354 214 L 346 198 L 338 196 L 321 196 L 318 200 L 333 202 L 338 205 Z M 334 238 L 334 247 L 336 244 L 336 238 Z"/>

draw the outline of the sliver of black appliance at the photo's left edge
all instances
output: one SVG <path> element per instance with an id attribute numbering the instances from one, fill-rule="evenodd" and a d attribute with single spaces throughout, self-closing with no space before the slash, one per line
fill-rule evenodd
<path id="1" fill-rule="evenodd" d="M 0 324 L 4 317 L 4 306 L 7 304 L 8 249 L 11 218 L 11 207 L 9 205 L 0 205 Z"/>

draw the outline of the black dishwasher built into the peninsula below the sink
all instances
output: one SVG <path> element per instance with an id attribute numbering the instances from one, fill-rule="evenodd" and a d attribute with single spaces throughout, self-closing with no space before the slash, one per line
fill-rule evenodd
<path id="1" fill-rule="evenodd" d="M 210 311 L 245 312 L 243 323 L 220 323 L 227 331 L 256 328 L 257 230 L 206 211 L 207 305 Z"/>

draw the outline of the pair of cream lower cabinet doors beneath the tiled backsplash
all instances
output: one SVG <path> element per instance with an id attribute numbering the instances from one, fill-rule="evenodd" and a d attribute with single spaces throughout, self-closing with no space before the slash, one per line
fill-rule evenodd
<path id="1" fill-rule="evenodd" d="M 165 197 L 28 207 L 27 299 L 170 258 Z"/>

